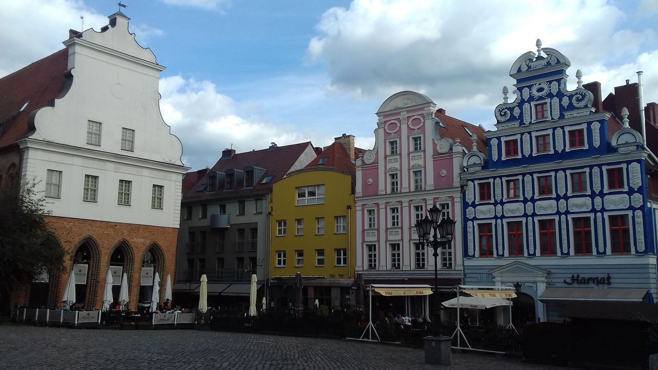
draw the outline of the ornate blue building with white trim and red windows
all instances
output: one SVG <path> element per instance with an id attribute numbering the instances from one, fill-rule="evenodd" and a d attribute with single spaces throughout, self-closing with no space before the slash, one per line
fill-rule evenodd
<path id="1" fill-rule="evenodd" d="M 603 111 L 598 82 L 578 70 L 568 90 L 569 59 L 537 47 L 511 67 L 516 99 L 503 88 L 488 154 L 464 157 L 465 284 L 517 286 L 515 324 L 562 321 L 575 301 L 653 302 L 655 156 L 626 109 Z"/>

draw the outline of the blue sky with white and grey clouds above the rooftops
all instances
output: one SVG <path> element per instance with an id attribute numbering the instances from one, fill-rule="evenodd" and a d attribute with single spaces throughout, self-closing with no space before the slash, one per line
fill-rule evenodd
<path id="1" fill-rule="evenodd" d="M 70 28 L 100 30 L 116 3 L 0 0 L 0 77 L 63 49 Z M 644 101 L 658 101 L 655 0 L 124 4 L 130 32 L 166 66 L 161 112 L 193 170 L 228 147 L 324 147 L 343 133 L 372 149 L 376 111 L 403 90 L 493 130 L 509 69 L 538 38 L 570 59 L 570 89 L 577 69 L 604 97 L 643 70 Z"/>

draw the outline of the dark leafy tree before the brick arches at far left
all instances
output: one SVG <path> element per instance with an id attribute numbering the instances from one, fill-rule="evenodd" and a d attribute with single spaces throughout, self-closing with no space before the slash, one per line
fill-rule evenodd
<path id="1" fill-rule="evenodd" d="M 37 183 L 27 180 L 0 185 L 0 295 L 3 302 L 15 288 L 42 273 L 58 273 L 64 251 L 53 240 L 44 215 L 46 201 Z"/>

